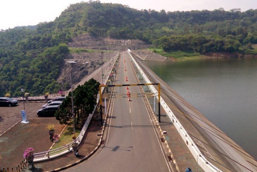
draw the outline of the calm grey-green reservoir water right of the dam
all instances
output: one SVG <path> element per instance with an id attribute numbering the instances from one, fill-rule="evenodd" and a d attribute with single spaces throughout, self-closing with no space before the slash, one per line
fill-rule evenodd
<path id="1" fill-rule="evenodd" d="M 257 159 L 257 59 L 211 58 L 145 63 Z"/>

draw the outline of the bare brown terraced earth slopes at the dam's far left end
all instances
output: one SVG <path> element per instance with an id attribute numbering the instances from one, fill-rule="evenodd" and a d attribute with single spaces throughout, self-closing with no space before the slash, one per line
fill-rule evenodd
<path id="1" fill-rule="evenodd" d="M 80 47 L 89 49 L 103 49 L 103 50 L 127 50 L 127 49 L 145 49 L 150 47 L 146 42 L 140 40 L 118 40 L 112 39 L 110 37 L 93 37 L 89 34 L 79 35 L 78 37 L 72 38 L 72 42 L 68 43 L 70 47 Z M 76 85 L 81 81 L 86 75 L 90 75 L 99 67 L 101 67 L 101 52 L 94 53 L 74 53 L 67 55 L 64 61 L 76 61 L 78 63 L 89 62 L 85 65 L 78 64 L 72 67 L 73 82 Z M 109 64 L 109 58 L 113 59 L 114 53 L 104 53 L 103 54 L 103 64 Z M 60 70 L 60 75 L 57 81 L 60 84 L 70 85 L 70 63 L 64 62 Z M 103 69 L 103 73 L 105 69 Z M 63 90 L 65 91 L 65 90 Z"/>

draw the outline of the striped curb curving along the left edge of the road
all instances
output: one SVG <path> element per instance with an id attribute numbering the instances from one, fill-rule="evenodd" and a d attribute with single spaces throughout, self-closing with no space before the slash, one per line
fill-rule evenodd
<path id="1" fill-rule="evenodd" d="M 119 68 L 119 65 L 118 65 L 117 68 Z M 116 75 L 116 76 L 117 76 L 117 75 Z M 111 92 L 113 92 L 113 88 L 112 88 Z M 79 163 L 85 161 L 85 160 L 88 159 L 89 157 L 91 157 L 91 156 L 98 150 L 98 148 L 100 147 L 101 142 L 102 142 L 104 129 L 105 129 L 105 127 L 106 127 L 105 124 L 106 124 L 106 121 L 107 121 L 107 116 L 108 116 L 110 104 L 111 104 L 111 99 L 109 100 L 109 103 L 108 103 L 108 106 L 107 106 L 107 110 L 106 110 L 106 111 L 107 111 L 107 114 L 105 114 L 105 119 L 104 119 L 103 128 L 102 128 L 102 132 L 101 132 L 101 137 L 100 137 L 100 140 L 98 141 L 97 147 L 94 148 L 94 150 L 93 150 L 92 152 L 90 152 L 87 156 L 85 156 L 84 158 L 82 158 L 82 159 L 79 160 L 79 161 L 74 162 L 73 164 L 69 164 L 69 165 L 67 165 L 67 166 L 63 166 L 63 167 L 60 167 L 60 168 L 57 168 L 57 169 L 54 169 L 54 170 L 51 170 L 51 171 L 46 171 L 46 172 L 61 171 L 61 170 L 65 170 L 65 169 L 67 169 L 67 168 L 70 168 L 70 167 L 72 167 L 72 166 L 75 166 L 75 165 L 77 165 L 77 164 L 79 164 Z"/>

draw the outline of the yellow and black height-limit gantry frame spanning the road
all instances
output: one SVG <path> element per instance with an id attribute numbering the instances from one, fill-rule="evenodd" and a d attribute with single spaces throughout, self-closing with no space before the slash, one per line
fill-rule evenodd
<path id="1" fill-rule="evenodd" d="M 161 110 L 160 110 L 161 87 L 160 87 L 160 83 L 153 83 L 153 84 L 99 85 L 101 124 L 103 124 L 102 123 L 102 91 L 101 91 L 102 87 L 124 87 L 124 86 L 144 86 L 144 85 L 158 85 L 158 113 L 159 113 L 159 122 L 161 122 Z"/>

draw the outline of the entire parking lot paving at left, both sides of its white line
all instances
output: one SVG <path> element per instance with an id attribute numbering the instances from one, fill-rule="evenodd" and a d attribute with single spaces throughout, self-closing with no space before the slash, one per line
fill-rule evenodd
<path id="1" fill-rule="evenodd" d="M 54 124 L 54 133 L 61 133 L 65 125 L 60 125 L 54 117 L 37 117 L 37 110 L 44 104 L 46 102 L 25 103 L 25 110 L 30 122 L 28 124 L 17 123 L 21 120 L 21 110 L 24 110 L 23 103 L 18 103 L 12 107 L 0 107 L 0 116 L 2 117 L 0 134 L 3 133 L 0 136 L 0 155 L 2 157 L 0 169 L 3 167 L 15 168 L 19 165 L 23 160 L 23 153 L 26 148 L 34 148 L 36 153 L 47 151 L 53 144 L 49 141 L 47 125 Z"/>

